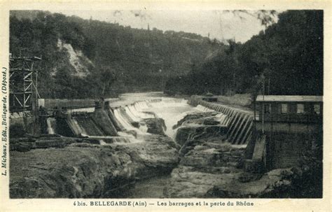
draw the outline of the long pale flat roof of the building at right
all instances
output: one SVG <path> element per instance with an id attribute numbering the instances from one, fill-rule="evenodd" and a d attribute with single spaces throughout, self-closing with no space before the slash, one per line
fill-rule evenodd
<path id="1" fill-rule="evenodd" d="M 258 95 L 256 101 L 263 101 L 263 95 Z M 264 95 L 264 101 L 314 101 L 322 102 L 322 96 L 281 96 L 281 95 Z"/>

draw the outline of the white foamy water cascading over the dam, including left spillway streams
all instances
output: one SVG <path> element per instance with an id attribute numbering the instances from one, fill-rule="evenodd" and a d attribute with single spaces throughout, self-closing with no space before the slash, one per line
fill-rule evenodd
<path id="1" fill-rule="evenodd" d="M 187 104 L 186 99 L 162 97 L 162 93 L 160 92 L 122 94 L 120 95 L 120 100 L 112 101 L 110 106 L 112 108 L 116 106 L 116 108 L 113 109 L 113 115 L 118 125 L 120 125 L 120 128 L 123 129 L 118 132 L 118 136 L 126 139 L 124 141 L 123 139 L 112 138 L 112 140 L 118 141 L 119 143 L 127 143 L 127 141 L 137 143 L 144 141 L 144 136 L 148 135 L 148 127 L 144 123 L 144 119 L 146 118 L 162 118 L 167 127 L 165 134 L 173 138 L 176 132 L 173 126 L 177 125 L 177 122 L 189 113 L 214 111 L 201 105 L 193 107 Z M 94 108 L 76 108 L 70 111 L 92 113 L 94 110 Z M 226 115 L 223 114 L 216 115 L 215 119 L 223 123 L 227 122 Z M 52 120 L 47 120 L 49 134 L 55 133 L 52 122 Z M 133 123 L 135 123 L 135 127 Z M 76 134 L 101 139 L 101 144 L 105 145 L 102 139 L 107 139 L 108 136 L 99 136 L 102 132 L 99 127 L 95 126 L 92 120 L 81 120 L 81 123 L 79 123 L 77 118 L 73 117 L 69 124 L 72 125 L 72 128 L 74 127 Z M 136 124 L 139 124 L 139 126 L 136 126 Z M 135 136 L 132 132 L 134 132 Z"/>

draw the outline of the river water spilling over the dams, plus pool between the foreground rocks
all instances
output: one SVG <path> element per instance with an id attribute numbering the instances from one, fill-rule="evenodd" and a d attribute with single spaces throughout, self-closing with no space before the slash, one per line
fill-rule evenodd
<path id="1" fill-rule="evenodd" d="M 146 92 L 146 93 L 126 93 L 119 97 L 118 101 L 113 101 L 109 104 L 118 127 L 121 129 L 116 136 L 104 136 L 101 129 L 96 125 L 95 120 L 89 115 L 72 116 L 69 120 L 71 129 L 75 134 L 89 136 L 92 139 L 98 139 L 100 144 L 109 145 L 105 141 L 112 139 L 114 143 L 124 145 L 125 143 L 139 143 L 144 142 L 144 135 L 146 132 L 146 125 L 144 118 L 162 118 L 165 121 L 167 129 L 165 134 L 174 138 L 176 131 L 173 129 L 177 122 L 184 118 L 188 113 L 208 112 L 212 111 L 204 106 L 193 107 L 187 104 L 185 99 L 177 99 L 164 97 L 161 92 Z M 86 112 L 92 113 L 95 108 L 76 108 L 69 109 L 69 113 Z M 219 117 L 223 119 L 222 116 Z M 134 126 L 133 122 L 139 126 Z M 55 118 L 48 118 L 48 133 L 55 132 Z M 135 132 L 134 135 L 132 132 Z M 143 181 L 133 183 L 130 188 L 120 191 L 118 197 L 132 197 L 132 198 L 161 198 L 163 197 L 163 189 L 167 185 L 170 174 L 156 176 Z"/>

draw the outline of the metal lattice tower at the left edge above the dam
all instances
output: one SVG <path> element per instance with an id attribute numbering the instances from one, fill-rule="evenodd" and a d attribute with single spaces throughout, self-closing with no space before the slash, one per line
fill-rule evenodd
<path id="1" fill-rule="evenodd" d="M 9 108 L 11 111 L 32 111 L 36 106 L 39 93 L 37 90 L 38 71 L 34 62 L 39 57 L 9 58 Z"/>

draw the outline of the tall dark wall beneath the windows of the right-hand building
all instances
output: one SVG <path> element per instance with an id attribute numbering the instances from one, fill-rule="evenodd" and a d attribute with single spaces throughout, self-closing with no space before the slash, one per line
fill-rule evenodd
<path id="1" fill-rule="evenodd" d="M 301 123 L 265 123 L 266 166 L 280 169 L 300 165 L 300 157 L 314 146 L 321 146 L 321 125 Z M 257 136 L 262 136 L 261 123 L 256 124 Z M 257 145 L 257 143 L 256 143 Z"/>

